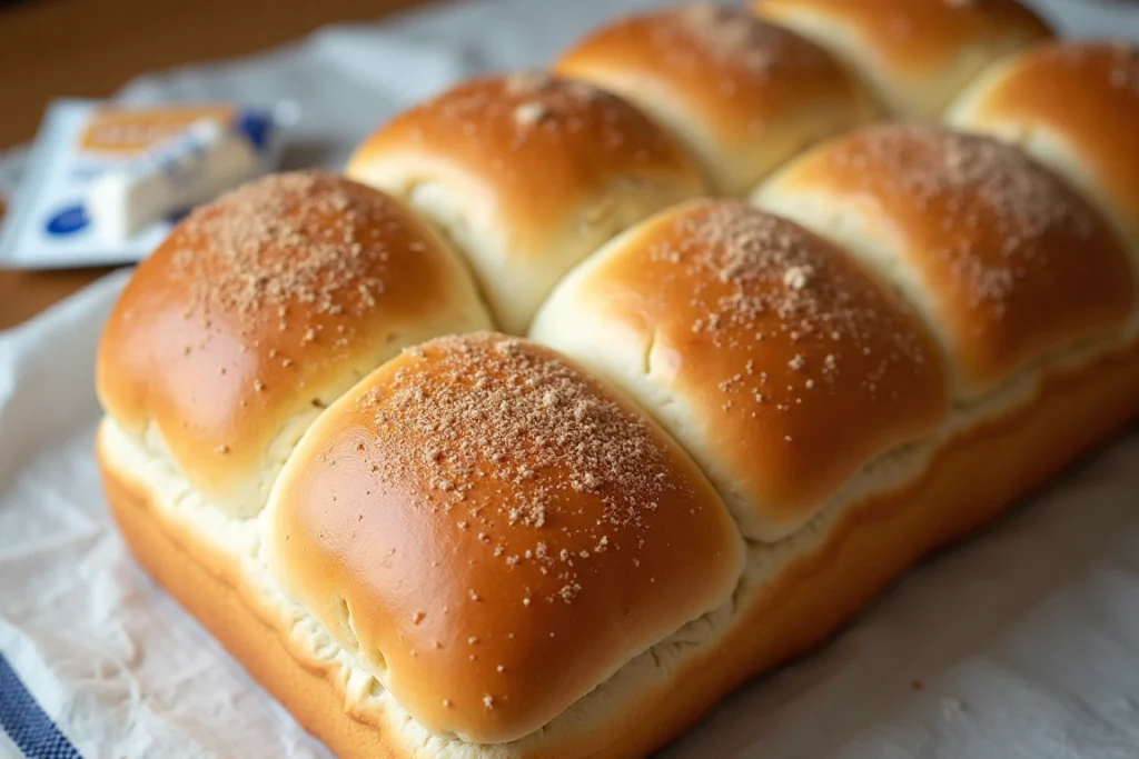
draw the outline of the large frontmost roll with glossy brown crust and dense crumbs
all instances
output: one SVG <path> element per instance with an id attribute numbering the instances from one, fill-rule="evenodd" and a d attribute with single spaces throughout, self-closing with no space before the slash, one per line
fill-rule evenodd
<path id="1" fill-rule="evenodd" d="M 741 541 L 693 461 L 552 350 L 417 346 L 319 419 L 270 568 L 428 729 L 500 743 L 719 605 Z"/>

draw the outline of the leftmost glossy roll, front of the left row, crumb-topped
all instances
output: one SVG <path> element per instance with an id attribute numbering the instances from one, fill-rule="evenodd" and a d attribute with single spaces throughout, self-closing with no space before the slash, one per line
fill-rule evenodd
<path id="1" fill-rule="evenodd" d="M 400 204 L 280 174 L 195 212 L 139 265 L 98 393 L 139 455 L 249 517 L 321 409 L 403 346 L 489 323 L 461 262 Z"/>

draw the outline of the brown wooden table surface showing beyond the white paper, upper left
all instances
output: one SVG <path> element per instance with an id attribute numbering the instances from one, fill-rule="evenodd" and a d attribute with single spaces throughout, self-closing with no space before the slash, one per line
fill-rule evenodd
<path id="1" fill-rule="evenodd" d="M 0 2 L 0 149 L 31 140 L 48 101 L 106 97 L 131 77 L 256 52 L 331 23 L 379 18 L 425 0 L 22 0 Z M 3 201 L 0 200 L 0 215 Z M 0 270 L 0 329 L 107 269 Z"/>

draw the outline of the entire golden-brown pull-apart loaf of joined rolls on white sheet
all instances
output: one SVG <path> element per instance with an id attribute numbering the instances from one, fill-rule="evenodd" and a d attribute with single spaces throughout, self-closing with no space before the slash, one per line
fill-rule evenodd
<path id="1" fill-rule="evenodd" d="M 645 756 L 1139 414 L 1134 53 L 757 10 L 461 84 L 123 292 L 112 510 L 338 754 Z"/>

